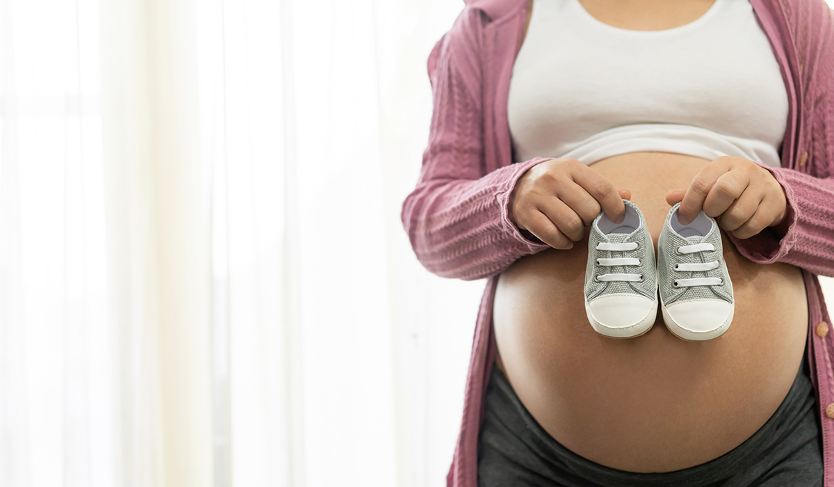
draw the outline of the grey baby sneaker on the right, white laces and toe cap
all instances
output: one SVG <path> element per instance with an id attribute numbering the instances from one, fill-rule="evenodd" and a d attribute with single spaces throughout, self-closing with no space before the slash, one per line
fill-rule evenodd
<path id="1" fill-rule="evenodd" d="M 730 327 L 732 282 L 724 263 L 721 230 L 701 211 L 687 225 L 672 206 L 657 240 L 657 281 L 666 327 L 685 340 L 711 340 Z"/>

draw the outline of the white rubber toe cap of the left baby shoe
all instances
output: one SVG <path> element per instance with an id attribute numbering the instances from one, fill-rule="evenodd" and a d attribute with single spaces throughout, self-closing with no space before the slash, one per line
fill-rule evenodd
<path id="1" fill-rule="evenodd" d="M 585 302 L 588 321 L 608 337 L 636 337 L 655 322 L 657 300 L 634 294 L 612 294 Z"/>

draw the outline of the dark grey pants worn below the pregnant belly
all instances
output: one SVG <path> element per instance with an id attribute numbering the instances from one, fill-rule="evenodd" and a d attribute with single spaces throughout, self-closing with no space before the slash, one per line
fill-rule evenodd
<path id="1" fill-rule="evenodd" d="M 480 487 L 713 487 L 822 485 L 822 434 L 807 361 L 776 413 L 736 449 L 706 464 L 640 474 L 566 449 L 530 415 L 493 367 L 478 438 Z"/>

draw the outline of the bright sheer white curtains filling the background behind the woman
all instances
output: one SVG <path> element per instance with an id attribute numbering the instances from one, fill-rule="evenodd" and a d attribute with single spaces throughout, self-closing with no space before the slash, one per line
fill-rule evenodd
<path id="1" fill-rule="evenodd" d="M 399 210 L 462 6 L 0 0 L 0 486 L 445 484 L 484 282 Z"/>

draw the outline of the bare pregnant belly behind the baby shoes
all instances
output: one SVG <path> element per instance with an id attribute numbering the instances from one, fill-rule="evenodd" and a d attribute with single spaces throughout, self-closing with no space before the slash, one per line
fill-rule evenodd
<path id="1" fill-rule="evenodd" d="M 670 206 L 710 161 L 666 152 L 617 155 L 591 165 L 631 190 L 657 242 Z M 587 241 L 548 249 L 501 273 L 493 322 L 496 365 L 560 444 L 633 472 L 667 472 L 716 459 L 776 411 L 796 377 L 807 333 L 801 271 L 748 261 L 723 236 L 736 313 L 721 337 L 686 342 L 660 310 L 649 332 L 615 340 L 585 316 Z"/>

